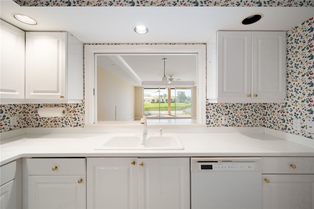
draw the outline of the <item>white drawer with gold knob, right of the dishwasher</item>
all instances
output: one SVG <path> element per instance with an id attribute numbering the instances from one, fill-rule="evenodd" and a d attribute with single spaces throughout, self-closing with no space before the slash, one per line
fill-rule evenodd
<path id="1" fill-rule="evenodd" d="M 314 157 L 262 157 L 263 174 L 314 174 Z"/>

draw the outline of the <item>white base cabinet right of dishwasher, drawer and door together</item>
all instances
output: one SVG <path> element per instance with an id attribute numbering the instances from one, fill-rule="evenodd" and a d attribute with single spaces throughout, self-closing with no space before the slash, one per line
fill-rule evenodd
<path id="1" fill-rule="evenodd" d="M 262 208 L 314 209 L 314 157 L 263 157 Z"/>

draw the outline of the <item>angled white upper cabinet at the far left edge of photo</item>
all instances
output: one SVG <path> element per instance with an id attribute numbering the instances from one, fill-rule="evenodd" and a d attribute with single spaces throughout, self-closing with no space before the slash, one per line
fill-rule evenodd
<path id="1" fill-rule="evenodd" d="M 0 99 L 20 103 L 25 98 L 25 31 L 0 21 Z"/>

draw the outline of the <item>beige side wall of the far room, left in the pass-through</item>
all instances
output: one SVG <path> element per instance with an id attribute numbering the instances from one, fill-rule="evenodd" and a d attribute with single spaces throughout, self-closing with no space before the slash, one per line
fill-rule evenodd
<path id="1" fill-rule="evenodd" d="M 134 120 L 134 86 L 97 67 L 97 120 Z"/>

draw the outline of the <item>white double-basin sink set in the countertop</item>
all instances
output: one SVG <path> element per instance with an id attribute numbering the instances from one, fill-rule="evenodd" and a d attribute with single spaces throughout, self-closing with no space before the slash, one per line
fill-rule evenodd
<path id="1" fill-rule="evenodd" d="M 147 134 L 144 145 L 143 134 L 117 134 L 95 150 L 183 150 L 176 133 Z"/>

